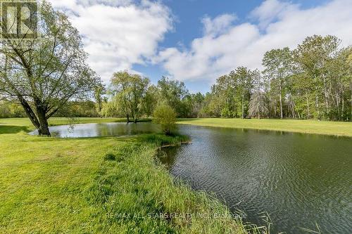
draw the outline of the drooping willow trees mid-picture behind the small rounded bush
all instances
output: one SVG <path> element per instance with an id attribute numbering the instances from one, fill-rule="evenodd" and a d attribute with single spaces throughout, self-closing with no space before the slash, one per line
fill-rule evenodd
<path id="1" fill-rule="evenodd" d="M 101 110 L 105 117 L 151 117 L 158 105 L 170 105 L 177 117 L 199 117 L 205 108 L 203 94 L 191 94 L 183 82 L 167 77 L 154 86 L 137 74 L 116 72 L 107 93 Z"/>

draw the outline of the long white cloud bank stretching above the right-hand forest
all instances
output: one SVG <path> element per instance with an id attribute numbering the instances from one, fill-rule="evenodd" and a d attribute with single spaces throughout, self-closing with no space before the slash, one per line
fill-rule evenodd
<path id="1" fill-rule="evenodd" d="M 206 18 L 203 37 L 194 39 L 189 49 L 166 48 L 154 61 L 163 64 L 175 79 L 213 82 L 239 65 L 260 68 L 265 51 L 295 48 L 313 34 L 336 35 L 344 45 L 352 44 L 351 9 L 351 0 L 308 9 L 267 0 L 249 14 L 256 24 L 234 25 L 228 15 Z"/>

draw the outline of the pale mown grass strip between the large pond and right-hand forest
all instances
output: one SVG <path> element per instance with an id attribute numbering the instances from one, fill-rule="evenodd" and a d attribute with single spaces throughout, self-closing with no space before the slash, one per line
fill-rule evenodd
<path id="1" fill-rule="evenodd" d="M 324 122 L 297 119 L 179 119 L 178 124 L 352 136 L 351 122 Z"/>

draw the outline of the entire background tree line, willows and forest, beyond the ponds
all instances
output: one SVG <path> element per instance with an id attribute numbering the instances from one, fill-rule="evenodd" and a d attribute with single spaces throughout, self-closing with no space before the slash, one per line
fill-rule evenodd
<path id="1" fill-rule="evenodd" d="M 307 37 L 293 51 L 272 49 L 263 57 L 263 70 L 237 67 L 218 77 L 210 92 L 189 93 L 183 82 L 162 77 L 158 84 L 139 74 L 116 72 L 111 84 L 95 90 L 95 101 L 71 101 L 74 117 L 151 117 L 167 104 L 177 117 L 293 118 L 351 121 L 352 47 L 341 47 L 334 36 Z M 64 113 L 64 114 L 63 114 Z M 25 112 L 6 100 L 0 117 Z"/>

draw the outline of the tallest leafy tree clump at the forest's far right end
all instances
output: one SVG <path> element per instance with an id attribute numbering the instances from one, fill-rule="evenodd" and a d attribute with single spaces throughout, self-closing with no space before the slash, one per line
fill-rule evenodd
<path id="1" fill-rule="evenodd" d="M 301 106 L 306 104 L 308 118 L 351 120 L 351 115 L 344 115 L 351 98 L 351 79 L 344 82 L 344 77 L 351 77 L 351 71 L 346 69 L 351 48 L 340 50 L 339 44 L 337 37 L 314 35 L 294 50 L 294 96 L 305 97 L 304 102 L 299 101 Z M 352 103 L 348 109 L 352 111 Z"/>

